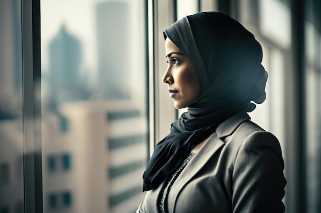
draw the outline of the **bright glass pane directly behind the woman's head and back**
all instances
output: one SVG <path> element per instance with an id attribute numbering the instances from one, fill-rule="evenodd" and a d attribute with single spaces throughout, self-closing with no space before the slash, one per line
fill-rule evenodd
<path id="1" fill-rule="evenodd" d="M 271 16 L 271 14 L 273 14 Z M 283 159 L 284 174 L 288 180 L 283 202 L 291 209 L 293 181 L 292 151 L 293 144 L 293 69 L 291 48 L 291 7 L 288 1 L 246 0 L 239 5 L 239 17 L 244 26 L 253 33 L 262 45 L 262 65 L 268 73 L 266 100 L 257 104 L 250 112 L 252 121 L 273 133 L 279 140 Z M 290 119 L 289 119 L 290 118 Z M 291 210 L 290 210 L 291 211 Z"/>

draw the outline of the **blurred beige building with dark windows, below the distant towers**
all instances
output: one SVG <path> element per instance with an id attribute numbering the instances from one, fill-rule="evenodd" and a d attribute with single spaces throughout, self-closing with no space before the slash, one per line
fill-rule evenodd
<path id="1" fill-rule="evenodd" d="M 43 122 L 44 211 L 134 212 L 147 161 L 141 104 L 86 101 L 57 111 Z"/>

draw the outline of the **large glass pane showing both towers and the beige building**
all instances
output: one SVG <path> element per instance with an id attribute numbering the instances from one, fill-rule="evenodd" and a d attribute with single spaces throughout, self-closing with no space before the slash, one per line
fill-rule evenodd
<path id="1" fill-rule="evenodd" d="M 41 0 L 44 212 L 134 212 L 148 159 L 144 0 Z"/>

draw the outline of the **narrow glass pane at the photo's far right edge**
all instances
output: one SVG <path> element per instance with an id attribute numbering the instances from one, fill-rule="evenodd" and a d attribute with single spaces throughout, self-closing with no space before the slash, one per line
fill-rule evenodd
<path id="1" fill-rule="evenodd" d="M 312 1 L 306 2 L 307 11 L 312 11 Z M 309 9 L 309 10 L 308 10 Z M 306 112 L 306 185 L 307 212 L 321 211 L 321 34 L 313 17 L 306 14 L 305 20 L 305 112 Z M 319 14 L 318 14 L 319 15 Z"/>

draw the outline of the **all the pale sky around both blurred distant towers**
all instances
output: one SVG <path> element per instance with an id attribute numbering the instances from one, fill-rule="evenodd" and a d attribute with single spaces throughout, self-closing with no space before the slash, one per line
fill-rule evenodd
<path id="1" fill-rule="evenodd" d="M 129 32 L 131 35 L 129 45 L 126 47 L 130 57 L 124 61 L 130 64 L 130 72 L 127 78 L 131 79 L 128 85 L 137 90 L 136 96 L 141 96 L 138 91 L 145 89 L 146 60 L 144 56 L 145 35 L 144 27 L 144 0 L 41 0 L 41 46 L 42 46 L 42 73 L 48 74 L 49 69 L 49 43 L 58 34 L 62 26 L 67 33 L 75 36 L 82 44 L 81 73 L 88 73 L 90 84 L 97 81 L 97 40 L 95 6 L 99 2 L 128 2 L 129 4 Z"/>

